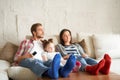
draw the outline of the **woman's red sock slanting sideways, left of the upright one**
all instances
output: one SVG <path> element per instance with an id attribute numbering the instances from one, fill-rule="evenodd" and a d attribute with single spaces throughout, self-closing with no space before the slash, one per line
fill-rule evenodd
<path id="1" fill-rule="evenodd" d="M 105 64 L 105 60 L 102 59 L 98 64 L 94 66 L 86 66 L 86 71 L 93 75 L 97 75 L 99 70 L 104 66 L 104 64 Z"/>

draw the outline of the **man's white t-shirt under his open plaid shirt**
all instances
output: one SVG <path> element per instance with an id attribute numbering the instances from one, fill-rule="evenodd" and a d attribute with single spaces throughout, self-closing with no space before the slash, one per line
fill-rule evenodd
<path id="1" fill-rule="evenodd" d="M 42 60 L 41 54 L 44 52 L 42 42 L 35 40 L 35 41 L 33 41 L 33 45 L 34 46 L 31 49 L 30 53 L 32 54 L 33 52 L 36 51 L 37 54 L 34 55 L 33 58 Z"/>

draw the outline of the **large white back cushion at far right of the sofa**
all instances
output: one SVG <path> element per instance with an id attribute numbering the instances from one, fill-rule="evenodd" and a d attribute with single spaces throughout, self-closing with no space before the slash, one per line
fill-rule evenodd
<path id="1" fill-rule="evenodd" d="M 120 35 L 93 35 L 93 43 L 97 59 L 101 59 L 105 53 L 109 54 L 111 58 L 120 58 Z"/>

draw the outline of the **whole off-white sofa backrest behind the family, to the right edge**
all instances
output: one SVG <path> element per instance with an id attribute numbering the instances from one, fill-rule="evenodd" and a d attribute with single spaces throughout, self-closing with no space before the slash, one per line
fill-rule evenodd
<path id="1" fill-rule="evenodd" d="M 73 42 L 80 42 L 84 39 L 87 47 L 87 54 L 90 57 L 100 59 L 105 53 L 108 53 L 112 58 L 120 58 L 120 35 L 77 33 L 76 36 L 73 36 Z M 53 39 L 54 44 L 59 43 L 58 35 L 47 35 L 44 37 L 44 39 L 49 38 Z"/>

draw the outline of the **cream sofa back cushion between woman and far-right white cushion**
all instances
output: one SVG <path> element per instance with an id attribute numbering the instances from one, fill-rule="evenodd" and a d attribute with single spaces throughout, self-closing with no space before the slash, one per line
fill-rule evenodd
<path id="1" fill-rule="evenodd" d="M 94 47 L 93 47 L 93 41 L 92 41 L 92 34 L 89 33 L 78 33 L 77 34 L 77 40 L 81 41 L 81 40 L 85 40 L 87 49 L 88 49 L 88 55 L 92 58 L 95 58 L 95 54 L 94 54 Z"/>

